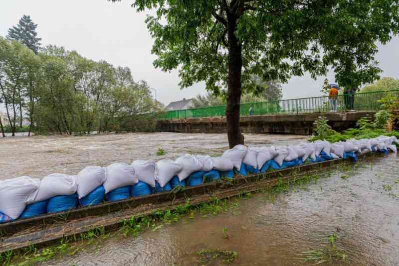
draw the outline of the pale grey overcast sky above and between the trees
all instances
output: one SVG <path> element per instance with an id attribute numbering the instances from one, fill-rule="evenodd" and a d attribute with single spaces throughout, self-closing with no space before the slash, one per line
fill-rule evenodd
<path id="1" fill-rule="evenodd" d="M 146 12 L 136 13 L 133 0 L 112 3 L 107 0 L 1 0 L 0 35 L 30 15 L 38 24 L 42 44 L 64 46 L 93 60 L 106 60 L 114 66 L 131 68 L 136 81 L 144 79 L 157 90 L 164 104 L 205 93 L 204 84 L 180 90 L 178 71 L 162 72 L 153 67 L 153 40 L 144 23 Z M 384 70 L 382 76 L 398 78 L 399 38 L 380 46 L 377 59 Z M 284 99 L 319 96 L 325 77 L 312 80 L 309 75 L 292 78 L 283 85 Z M 327 78 L 334 81 L 334 74 Z"/>

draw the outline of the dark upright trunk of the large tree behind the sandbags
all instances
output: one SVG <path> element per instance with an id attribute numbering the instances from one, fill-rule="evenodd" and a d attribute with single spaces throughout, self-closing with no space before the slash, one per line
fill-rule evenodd
<path id="1" fill-rule="evenodd" d="M 230 148 L 244 144 L 240 131 L 242 46 L 235 36 L 236 19 L 228 21 L 227 137 Z"/>

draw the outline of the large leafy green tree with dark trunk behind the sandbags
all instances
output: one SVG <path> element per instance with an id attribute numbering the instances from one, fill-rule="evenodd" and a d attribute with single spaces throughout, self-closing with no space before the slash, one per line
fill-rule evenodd
<path id="1" fill-rule="evenodd" d="M 112 0 L 118 1 L 118 0 Z M 371 82 L 380 69 L 376 42 L 398 30 L 398 0 L 135 0 L 154 38 L 154 65 L 180 68 L 181 87 L 227 87 L 230 146 L 243 143 L 239 104 L 253 75 L 286 82 L 329 66 L 344 86 Z"/>

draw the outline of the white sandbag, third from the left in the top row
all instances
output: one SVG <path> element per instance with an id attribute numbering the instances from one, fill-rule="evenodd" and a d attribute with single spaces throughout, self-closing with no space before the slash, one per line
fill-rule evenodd
<path id="1" fill-rule="evenodd" d="M 87 166 L 76 175 L 79 199 L 86 197 L 107 180 L 107 169 L 101 166 Z"/>

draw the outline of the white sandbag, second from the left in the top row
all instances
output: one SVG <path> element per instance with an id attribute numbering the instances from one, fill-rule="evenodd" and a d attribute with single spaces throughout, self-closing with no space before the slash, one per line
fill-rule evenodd
<path id="1" fill-rule="evenodd" d="M 48 200 L 55 196 L 67 196 L 76 193 L 76 176 L 68 174 L 50 174 L 40 180 L 39 189 L 33 202 Z"/>

